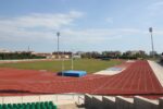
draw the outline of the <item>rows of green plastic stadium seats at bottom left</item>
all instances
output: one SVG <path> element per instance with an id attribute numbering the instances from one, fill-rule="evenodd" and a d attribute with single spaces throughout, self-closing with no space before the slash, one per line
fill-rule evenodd
<path id="1" fill-rule="evenodd" d="M 57 109 L 57 106 L 52 101 L 1 104 L 0 109 Z"/>

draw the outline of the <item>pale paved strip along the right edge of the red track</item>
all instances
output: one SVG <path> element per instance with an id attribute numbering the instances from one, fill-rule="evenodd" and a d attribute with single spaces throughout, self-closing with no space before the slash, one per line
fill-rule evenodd
<path id="1" fill-rule="evenodd" d="M 154 62 L 154 61 L 150 61 L 148 60 L 150 66 L 152 68 L 155 76 L 158 77 L 160 84 L 163 87 L 163 66 L 161 66 L 159 63 Z"/>

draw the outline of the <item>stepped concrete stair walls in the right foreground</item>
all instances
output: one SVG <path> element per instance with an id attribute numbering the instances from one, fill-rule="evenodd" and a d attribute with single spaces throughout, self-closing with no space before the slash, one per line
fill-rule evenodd
<path id="1" fill-rule="evenodd" d="M 86 94 L 85 107 L 86 109 L 163 109 L 163 98 L 152 100 L 140 96 L 126 98 Z"/>

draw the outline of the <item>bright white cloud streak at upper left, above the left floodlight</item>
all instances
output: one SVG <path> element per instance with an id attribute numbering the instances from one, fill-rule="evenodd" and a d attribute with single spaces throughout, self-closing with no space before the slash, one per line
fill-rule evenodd
<path id="1" fill-rule="evenodd" d="M 34 13 L 30 15 L 2 19 L 0 20 L 1 25 L 9 25 L 14 27 L 48 27 L 48 28 L 60 28 L 61 26 L 70 25 L 74 20 L 83 16 L 83 13 L 77 11 L 71 11 L 66 14 L 42 14 Z"/>

